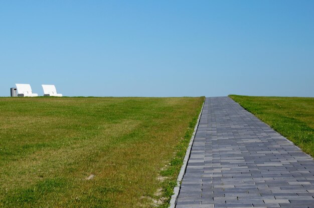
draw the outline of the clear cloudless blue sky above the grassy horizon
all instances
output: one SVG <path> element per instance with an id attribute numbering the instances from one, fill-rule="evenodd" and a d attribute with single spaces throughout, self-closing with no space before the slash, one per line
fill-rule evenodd
<path id="1" fill-rule="evenodd" d="M 313 0 L 2 0 L 0 96 L 314 96 Z"/>

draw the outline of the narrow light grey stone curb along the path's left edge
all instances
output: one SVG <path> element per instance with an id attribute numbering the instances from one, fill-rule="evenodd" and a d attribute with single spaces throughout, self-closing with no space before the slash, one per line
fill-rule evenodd
<path id="1" fill-rule="evenodd" d="M 181 187 L 181 181 L 182 181 L 183 176 L 184 176 L 184 174 L 186 172 L 186 169 L 187 169 L 188 161 L 189 161 L 190 155 L 191 155 L 191 148 L 192 148 L 192 145 L 193 145 L 193 142 L 194 142 L 196 131 L 197 131 L 198 127 L 199 127 L 199 123 L 200 123 L 200 119 L 201 119 L 201 115 L 202 115 L 202 112 L 203 112 L 205 101 L 206 101 L 206 97 L 204 99 L 201 112 L 199 114 L 199 117 L 197 119 L 196 125 L 194 127 L 194 131 L 192 133 L 192 136 L 191 136 L 191 139 L 190 139 L 190 143 L 189 143 L 186 155 L 184 157 L 183 164 L 181 166 L 181 170 L 180 170 L 178 178 L 177 178 L 177 185 L 174 188 L 174 194 L 171 196 L 171 199 L 170 199 L 170 202 L 169 202 L 169 208 L 175 208 L 176 207 L 177 199 L 178 199 L 178 195 L 179 195 L 180 187 Z"/>

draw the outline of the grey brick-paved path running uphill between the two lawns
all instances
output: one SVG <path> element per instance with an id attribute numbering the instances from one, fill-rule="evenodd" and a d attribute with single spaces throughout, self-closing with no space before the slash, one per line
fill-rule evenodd
<path id="1" fill-rule="evenodd" d="M 314 160 L 229 97 L 206 98 L 177 201 L 314 207 Z"/>

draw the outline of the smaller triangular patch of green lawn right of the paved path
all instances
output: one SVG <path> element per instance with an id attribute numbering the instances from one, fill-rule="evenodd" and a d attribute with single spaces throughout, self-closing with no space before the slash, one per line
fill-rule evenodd
<path id="1" fill-rule="evenodd" d="M 229 96 L 314 156 L 314 97 Z"/>

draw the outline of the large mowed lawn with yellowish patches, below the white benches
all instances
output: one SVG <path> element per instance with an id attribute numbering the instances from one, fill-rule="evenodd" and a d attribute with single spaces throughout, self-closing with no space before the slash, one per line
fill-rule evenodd
<path id="1" fill-rule="evenodd" d="M 167 206 L 203 101 L 0 98 L 0 206 Z"/>

